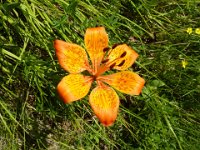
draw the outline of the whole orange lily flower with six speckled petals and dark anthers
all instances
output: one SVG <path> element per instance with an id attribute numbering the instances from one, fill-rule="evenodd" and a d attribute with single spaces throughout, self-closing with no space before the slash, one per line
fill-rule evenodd
<path id="1" fill-rule="evenodd" d="M 70 103 L 85 97 L 92 82 L 96 81 L 97 86 L 90 93 L 89 103 L 100 122 L 110 126 L 117 118 L 120 103 L 114 89 L 139 95 L 144 86 L 143 78 L 134 72 L 125 71 L 134 63 L 138 54 L 126 44 L 109 49 L 104 27 L 88 28 L 84 40 L 91 62 L 86 51 L 79 45 L 54 41 L 59 64 L 70 73 L 60 81 L 57 90 L 64 103 Z M 104 75 L 111 69 L 121 72 Z M 80 74 L 85 70 L 90 76 Z"/>

